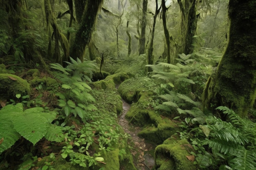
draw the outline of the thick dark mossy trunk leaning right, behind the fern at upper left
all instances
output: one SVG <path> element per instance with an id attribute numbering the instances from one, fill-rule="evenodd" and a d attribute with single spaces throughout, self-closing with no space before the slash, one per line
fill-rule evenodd
<path id="1" fill-rule="evenodd" d="M 70 48 L 70 57 L 75 60 L 78 57 L 81 61 L 83 61 L 85 46 L 90 42 L 92 31 L 94 29 L 94 23 L 97 19 L 97 13 L 101 8 L 102 3 L 103 0 L 88 0 L 85 3 L 86 6 L 81 19 L 81 24 L 76 32 L 74 43 Z"/>

